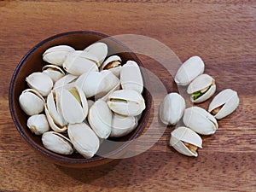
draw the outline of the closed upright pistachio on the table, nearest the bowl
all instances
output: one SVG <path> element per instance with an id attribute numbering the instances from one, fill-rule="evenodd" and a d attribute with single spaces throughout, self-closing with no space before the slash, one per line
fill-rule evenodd
<path id="1" fill-rule="evenodd" d="M 185 100 L 177 93 L 169 93 L 160 104 L 160 120 L 166 125 L 176 125 L 186 108 Z"/>

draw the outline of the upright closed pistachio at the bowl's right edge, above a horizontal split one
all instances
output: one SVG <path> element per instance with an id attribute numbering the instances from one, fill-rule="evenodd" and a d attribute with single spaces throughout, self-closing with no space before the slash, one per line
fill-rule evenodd
<path id="1" fill-rule="evenodd" d="M 120 82 L 124 90 L 143 92 L 143 76 L 136 61 L 127 61 L 120 71 Z"/>

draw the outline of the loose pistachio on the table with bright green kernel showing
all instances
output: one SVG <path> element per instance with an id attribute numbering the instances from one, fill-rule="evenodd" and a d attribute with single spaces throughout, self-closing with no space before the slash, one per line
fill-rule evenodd
<path id="1" fill-rule="evenodd" d="M 191 102 L 205 102 L 216 90 L 215 80 L 208 74 L 197 76 L 187 89 Z"/>

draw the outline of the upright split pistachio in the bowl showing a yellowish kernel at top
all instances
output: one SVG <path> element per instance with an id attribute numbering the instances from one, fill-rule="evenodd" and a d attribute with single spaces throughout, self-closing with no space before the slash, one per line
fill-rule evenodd
<path id="1" fill-rule="evenodd" d="M 60 111 L 69 124 L 81 123 L 87 116 L 88 103 L 84 92 L 77 86 L 60 91 Z"/>

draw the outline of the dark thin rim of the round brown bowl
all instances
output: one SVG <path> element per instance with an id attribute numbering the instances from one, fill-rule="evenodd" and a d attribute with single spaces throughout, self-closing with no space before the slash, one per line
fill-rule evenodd
<path id="1" fill-rule="evenodd" d="M 108 35 L 105 35 L 105 34 L 102 34 L 100 32 L 91 32 L 91 31 L 73 31 L 73 32 L 62 32 L 62 33 L 58 33 L 58 34 L 55 34 L 49 38 L 45 38 L 43 41 L 41 41 L 40 43 L 36 44 L 35 46 L 32 47 L 32 49 L 30 49 L 26 55 L 24 55 L 22 57 L 22 59 L 20 60 L 20 62 L 18 63 L 17 67 L 15 68 L 15 72 L 13 73 L 13 76 L 12 76 L 12 79 L 10 81 L 10 84 L 9 84 L 9 110 L 10 110 L 10 113 L 11 113 L 11 116 L 12 116 L 12 119 L 15 123 L 15 127 L 16 129 L 20 132 L 20 135 L 26 140 L 26 142 L 30 143 L 31 146 L 35 149 L 37 149 L 38 152 L 41 152 L 42 154 L 52 158 L 52 159 L 55 159 L 55 160 L 61 160 L 63 162 L 66 162 L 66 163 L 76 163 L 76 164 L 83 164 L 83 163 L 90 163 L 90 162 L 97 162 L 97 161 L 100 161 L 100 160 L 106 160 L 106 159 L 112 159 L 111 157 L 114 156 L 114 155 L 118 155 L 123 149 L 125 149 L 126 147 L 128 147 L 128 145 L 130 145 L 130 143 L 132 143 L 134 141 L 135 138 L 137 138 L 143 131 L 143 127 L 145 127 L 147 121 L 148 121 L 148 116 L 149 116 L 149 112 L 150 110 L 145 110 L 144 111 L 144 118 L 146 120 L 142 121 L 140 126 L 137 127 L 138 130 L 132 135 L 132 137 L 129 139 L 129 141 L 126 141 L 124 144 L 122 144 L 119 148 L 116 148 L 114 149 L 113 151 L 111 152 L 108 152 L 108 154 L 104 155 L 103 156 L 100 156 L 100 155 L 97 155 L 96 157 L 93 157 L 93 158 L 90 158 L 90 159 L 74 159 L 74 158 L 71 158 L 69 156 L 65 157 L 64 155 L 61 155 L 61 154 L 55 154 L 55 153 L 49 153 L 46 149 L 42 149 L 42 148 L 39 148 L 38 147 L 38 144 L 33 142 L 32 139 L 30 139 L 30 137 L 27 136 L 26 132 L 23 131 L 23 128 L 21 127 L 21 125 L 19 124 L 18 122 L 18 118 L 16 117 L 15 115 L 15 108 L 14 108 L 14 99 L 13 99 L 13 96 L 14 96 L 14 85 L 15 85 L 15 80 L 17 78 L 17 75 L 18 73 L 20 72 L 20 68 L 23 66 L 24 62 L 26 61 L 26 59 L 32 55 L 32 53 L 38 49 L 39 47 L 43 46 L 44 44 L 48 43 L 49 41 L 51 40 L 54 40 L 55 38 L 61 38 L 63 36 L 68 36 L 68 35 L 74 35 L 74 34 L 90 34 L 90 35 L 96 35 L 96 36 L 99 36 L 101 37 L 102 39 L 103 38 L 108 38 L 109 40 L 113 41 L 114 43 L 116 44 L 119 44 L 121 47 L 123 47 L 127 52 L 129 52 L 129 54 L 132 55 L 132 57 L 137 61 L 138 65 L 140 67 L 144 67 L 143 66 L 143 63 L 138 59 L 137 55 L 135 55 L 134 52 L 131 51 L 131 49 L 129 49 L 127 46 L 125 46 L 125 44 L 119 42 L 117 39 L 115 38 L 112 38 L 111 36 L 108 36 Z M 100 39 L 100 40 L 102 40 Z M 99 41 L 100 41 L 99 40 Z M 149 91 L 147 90 L 147 96 L 148 96 L 148 102 L 147 102 L 147 105 L 148 105 L 148 109 L 151 108 L 151 102 L 152 102 L 152 97 L 149 93 Z"/>

